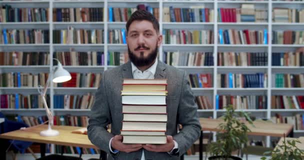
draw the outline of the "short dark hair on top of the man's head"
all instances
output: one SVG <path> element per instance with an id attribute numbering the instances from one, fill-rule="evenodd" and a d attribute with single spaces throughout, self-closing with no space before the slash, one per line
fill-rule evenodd
<path id="1" fill-rule="evenodd" d="M 157 33 L 159 32 L 159 23 L 158 23 L 157 19 L 155 18 L 155 16 L 153 14 L 151 14 L 150 12 L 142 10 L 142 9 L 138 9 L 138 10 L 134 11 L 132 13 L 132 15 L 130 16 L 130 18 L 127 20 L 127 22 L 125 24 L 126 32 L 128 32 L 129 27 L 134 20 L 139 20 L 139 21 L 147 20 L 153 24 L 153 28 L 156 30 L 156 32 Z"/>

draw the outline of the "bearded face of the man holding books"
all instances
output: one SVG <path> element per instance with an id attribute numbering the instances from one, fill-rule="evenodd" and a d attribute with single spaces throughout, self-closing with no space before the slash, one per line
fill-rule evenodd
<path id="1" fill-rule="evenodd" d="M 150 65 L 157 56 L 157 48 L 161 44 L 162 36 L 147 20 L 135 20 L 128 29 L 126 42 L 130 60 L 136 66 Z"/>

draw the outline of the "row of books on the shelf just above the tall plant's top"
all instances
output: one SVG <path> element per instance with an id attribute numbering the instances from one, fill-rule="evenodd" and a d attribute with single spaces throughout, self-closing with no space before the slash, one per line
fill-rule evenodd
<path id="1" fill-rule="evenodd" d="M 231 104 L 234 109 L 266 109 L 267 95 L 216 95 L 216 109 Z"/>

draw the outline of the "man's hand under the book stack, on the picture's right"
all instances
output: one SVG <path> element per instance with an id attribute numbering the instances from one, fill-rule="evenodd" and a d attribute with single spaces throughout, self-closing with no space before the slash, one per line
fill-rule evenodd
<path id="1" fill-rule="evenodd" d="M 173 137 L 171 135 L 167 135 L 167 143 L 165 144 L 145 144 L 143 145 L 143 148 L 145 148 L 148 151 L 154 151 L 154 152 L 169 152 L 174 147 L 174 141 Z"/>

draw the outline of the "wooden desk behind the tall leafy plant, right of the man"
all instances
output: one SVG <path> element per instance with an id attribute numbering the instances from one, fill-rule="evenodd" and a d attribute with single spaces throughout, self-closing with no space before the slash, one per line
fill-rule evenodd
<path id="1" fill-rule="evenodd" d="M 199 123 L 201 126 L 200 137 L 199 137 L 199 159 L 202 160 L 202 138 L 203 132 L 202 131 L 221 131 L 217 128 L 217 126 L 224 122 L 223 119 L 212 119 L 212 118 L 199 118 Z M 246 122 L 248 128 L 251 130 L 248 132 L 248 135 L 262 135 L 262 136 L 277 136 L 281 137 L 284 134 L 287 136 L 289 133 L 292 136 L 292 124 L 275 124 L 272 122 L 256 120 L 253 121 L 253 125 L 250 125 Z"/>

